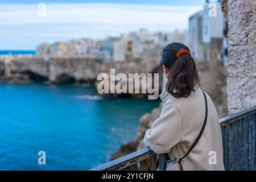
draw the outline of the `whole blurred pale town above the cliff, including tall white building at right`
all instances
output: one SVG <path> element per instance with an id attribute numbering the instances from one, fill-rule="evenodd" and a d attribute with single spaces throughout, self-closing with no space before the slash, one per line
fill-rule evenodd
<path id="1" fill-rule="evenodd" d="M 186 44 L 196 61 L 222 61 L 228 63 L 226 20 L 220 3 L 216 3 L 216 16 L 209 16 L 209 3 L 189 17 L 188 30 L 150 32 L 146 28 L 125 32 L 104 40 L 81 38 L 69 42 L 42 43 L 36 47 L 38 56 L 85 56 L 112 63 L 143 59 L 170 42 Z M 158 52 L 156 52 L 158 51 Z"/>

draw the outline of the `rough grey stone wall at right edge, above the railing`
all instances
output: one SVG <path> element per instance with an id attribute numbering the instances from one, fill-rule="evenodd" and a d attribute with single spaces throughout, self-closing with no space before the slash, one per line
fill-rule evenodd
<path id="1" fill-rule="evenodd" d="M 256 105 L 256 1 L 225 0 L 229 114 Z"/>

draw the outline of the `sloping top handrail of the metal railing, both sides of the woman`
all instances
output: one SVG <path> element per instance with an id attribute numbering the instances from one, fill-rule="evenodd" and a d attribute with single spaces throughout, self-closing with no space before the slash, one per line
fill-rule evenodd
<path id="1" fill-rule="evenodd" d="M 224 125 L 226 122 L 232 122 L 254 113 L 256 113 L 256 106 L 251 107 L 250 109 L 243 110 L 239 113 L 230 114 L 224 118 L 221 118 L 220 124 Z M 130 167 L 135 163 L 141 162 L 142 160 L 150 158 L 151 156 L 154 156 L 154 155 L 157 155 L 157 154 L 155 154 L 155 152 L 152 151 L 150 147 L 146 147 L 146 148 L 143 148 L 142 150 L 135 151 L 121 158 L 112 160 L 110 162 L 101 164 L 100 166 L 89 169 L 89 171 L 102 171 L 102 170 L 111 170 L 111 169 L 121 170 L 121 169 Z"/>

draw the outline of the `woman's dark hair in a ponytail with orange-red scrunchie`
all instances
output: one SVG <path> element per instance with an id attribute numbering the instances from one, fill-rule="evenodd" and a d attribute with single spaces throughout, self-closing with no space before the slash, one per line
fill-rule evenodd
<path id="1" fill-rule="evenodd" d="M 171 43 L 164 47 L 161 64 L 166 65 L 170 74 L 166 84 L 167 92 L 174 97 L 188 97 L 200 84 L 196 64 L 187 46 Z"/>

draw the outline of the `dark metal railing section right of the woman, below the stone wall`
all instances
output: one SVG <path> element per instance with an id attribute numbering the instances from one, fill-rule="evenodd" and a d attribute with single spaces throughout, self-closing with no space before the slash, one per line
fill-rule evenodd
<path id="1" fill-rule="evenodd" d="M 220 119 L 226 170 L 256 169 L 256 106 Z"/>

